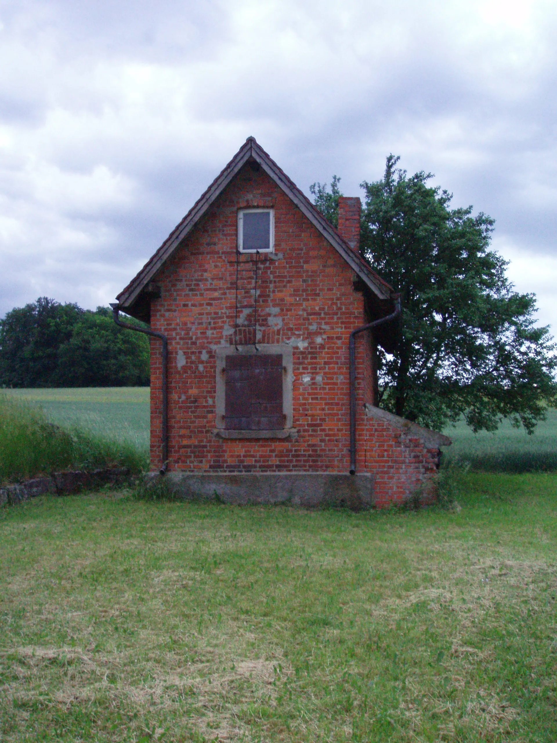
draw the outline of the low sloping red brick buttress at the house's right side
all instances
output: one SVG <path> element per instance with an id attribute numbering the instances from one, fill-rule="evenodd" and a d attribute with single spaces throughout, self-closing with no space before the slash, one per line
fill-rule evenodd
<path id="1" fill-rule="evenodd" d="M 435 496 L 440 447 L 451 439 L 372 405 L 365 406 L 365 470 L 374 475 L 378 507 Z"/>

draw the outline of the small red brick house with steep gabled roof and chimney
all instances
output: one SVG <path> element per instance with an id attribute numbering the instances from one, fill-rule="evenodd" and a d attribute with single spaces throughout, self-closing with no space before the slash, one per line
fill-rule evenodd
<path id="1" fill-rule="evenodd" d="M 374 404 L 400 304 L 359 255 L 360 208 L 340 198 L 331 227 L 249 137 L 117 297 L 117 322 L 151 327 L 152 467 L 184 496 L 362 507 L 431 489 L 450 440 Z"/>

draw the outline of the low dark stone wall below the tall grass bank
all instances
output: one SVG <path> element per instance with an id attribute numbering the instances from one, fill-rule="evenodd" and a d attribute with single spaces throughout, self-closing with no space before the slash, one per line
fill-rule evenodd
<path id="1" fill-rule="evenodd" d="M 19 484 L 0 487 L 0 505 L 21 503 L 36 496 L 48 494 L 64 496 L 106 484 L 122 484 L 128 476 L 127 467 L 112 467 L 91 472 L 55 472 L 52 476 L 37 477 Z"/>

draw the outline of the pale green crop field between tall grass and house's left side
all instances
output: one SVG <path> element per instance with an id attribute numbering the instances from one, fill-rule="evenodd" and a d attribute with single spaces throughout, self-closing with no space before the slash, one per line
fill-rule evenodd
<path id="1" fill-rule="evenodd" d="M 59 426 L 79 428 L 105 438 L 149 449 L 149 387 L 71 387 L 5 390 L 19 400 L 42 406 Z"/>

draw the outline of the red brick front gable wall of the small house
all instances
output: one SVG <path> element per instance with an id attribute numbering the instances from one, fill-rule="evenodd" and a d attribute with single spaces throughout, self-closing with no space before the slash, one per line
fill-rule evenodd
<path id="1" fill-rule="evenodd" d="M 232 343 L 238 208 L 273 207 L 275 257 L 258 278 L 260 343 L 293 345 L 298 438 L 223 440 L 215 428 L 215 348 Z M 169 339 L 169 470 L 348 472 L 348 337 L 367 322 L 362 293 L 336 250 L 262 170 L 219 196 L 157 276 L 152 328 Z M 160 466 L 160 344 L 152 353 L 152 465 Z M 369 342 L 356 343 L 358 436 L 371 402 Z M 307 379 L 309 377 L 309 379 Z M 359 447 L 358 465 L 365 464 Z"/>

